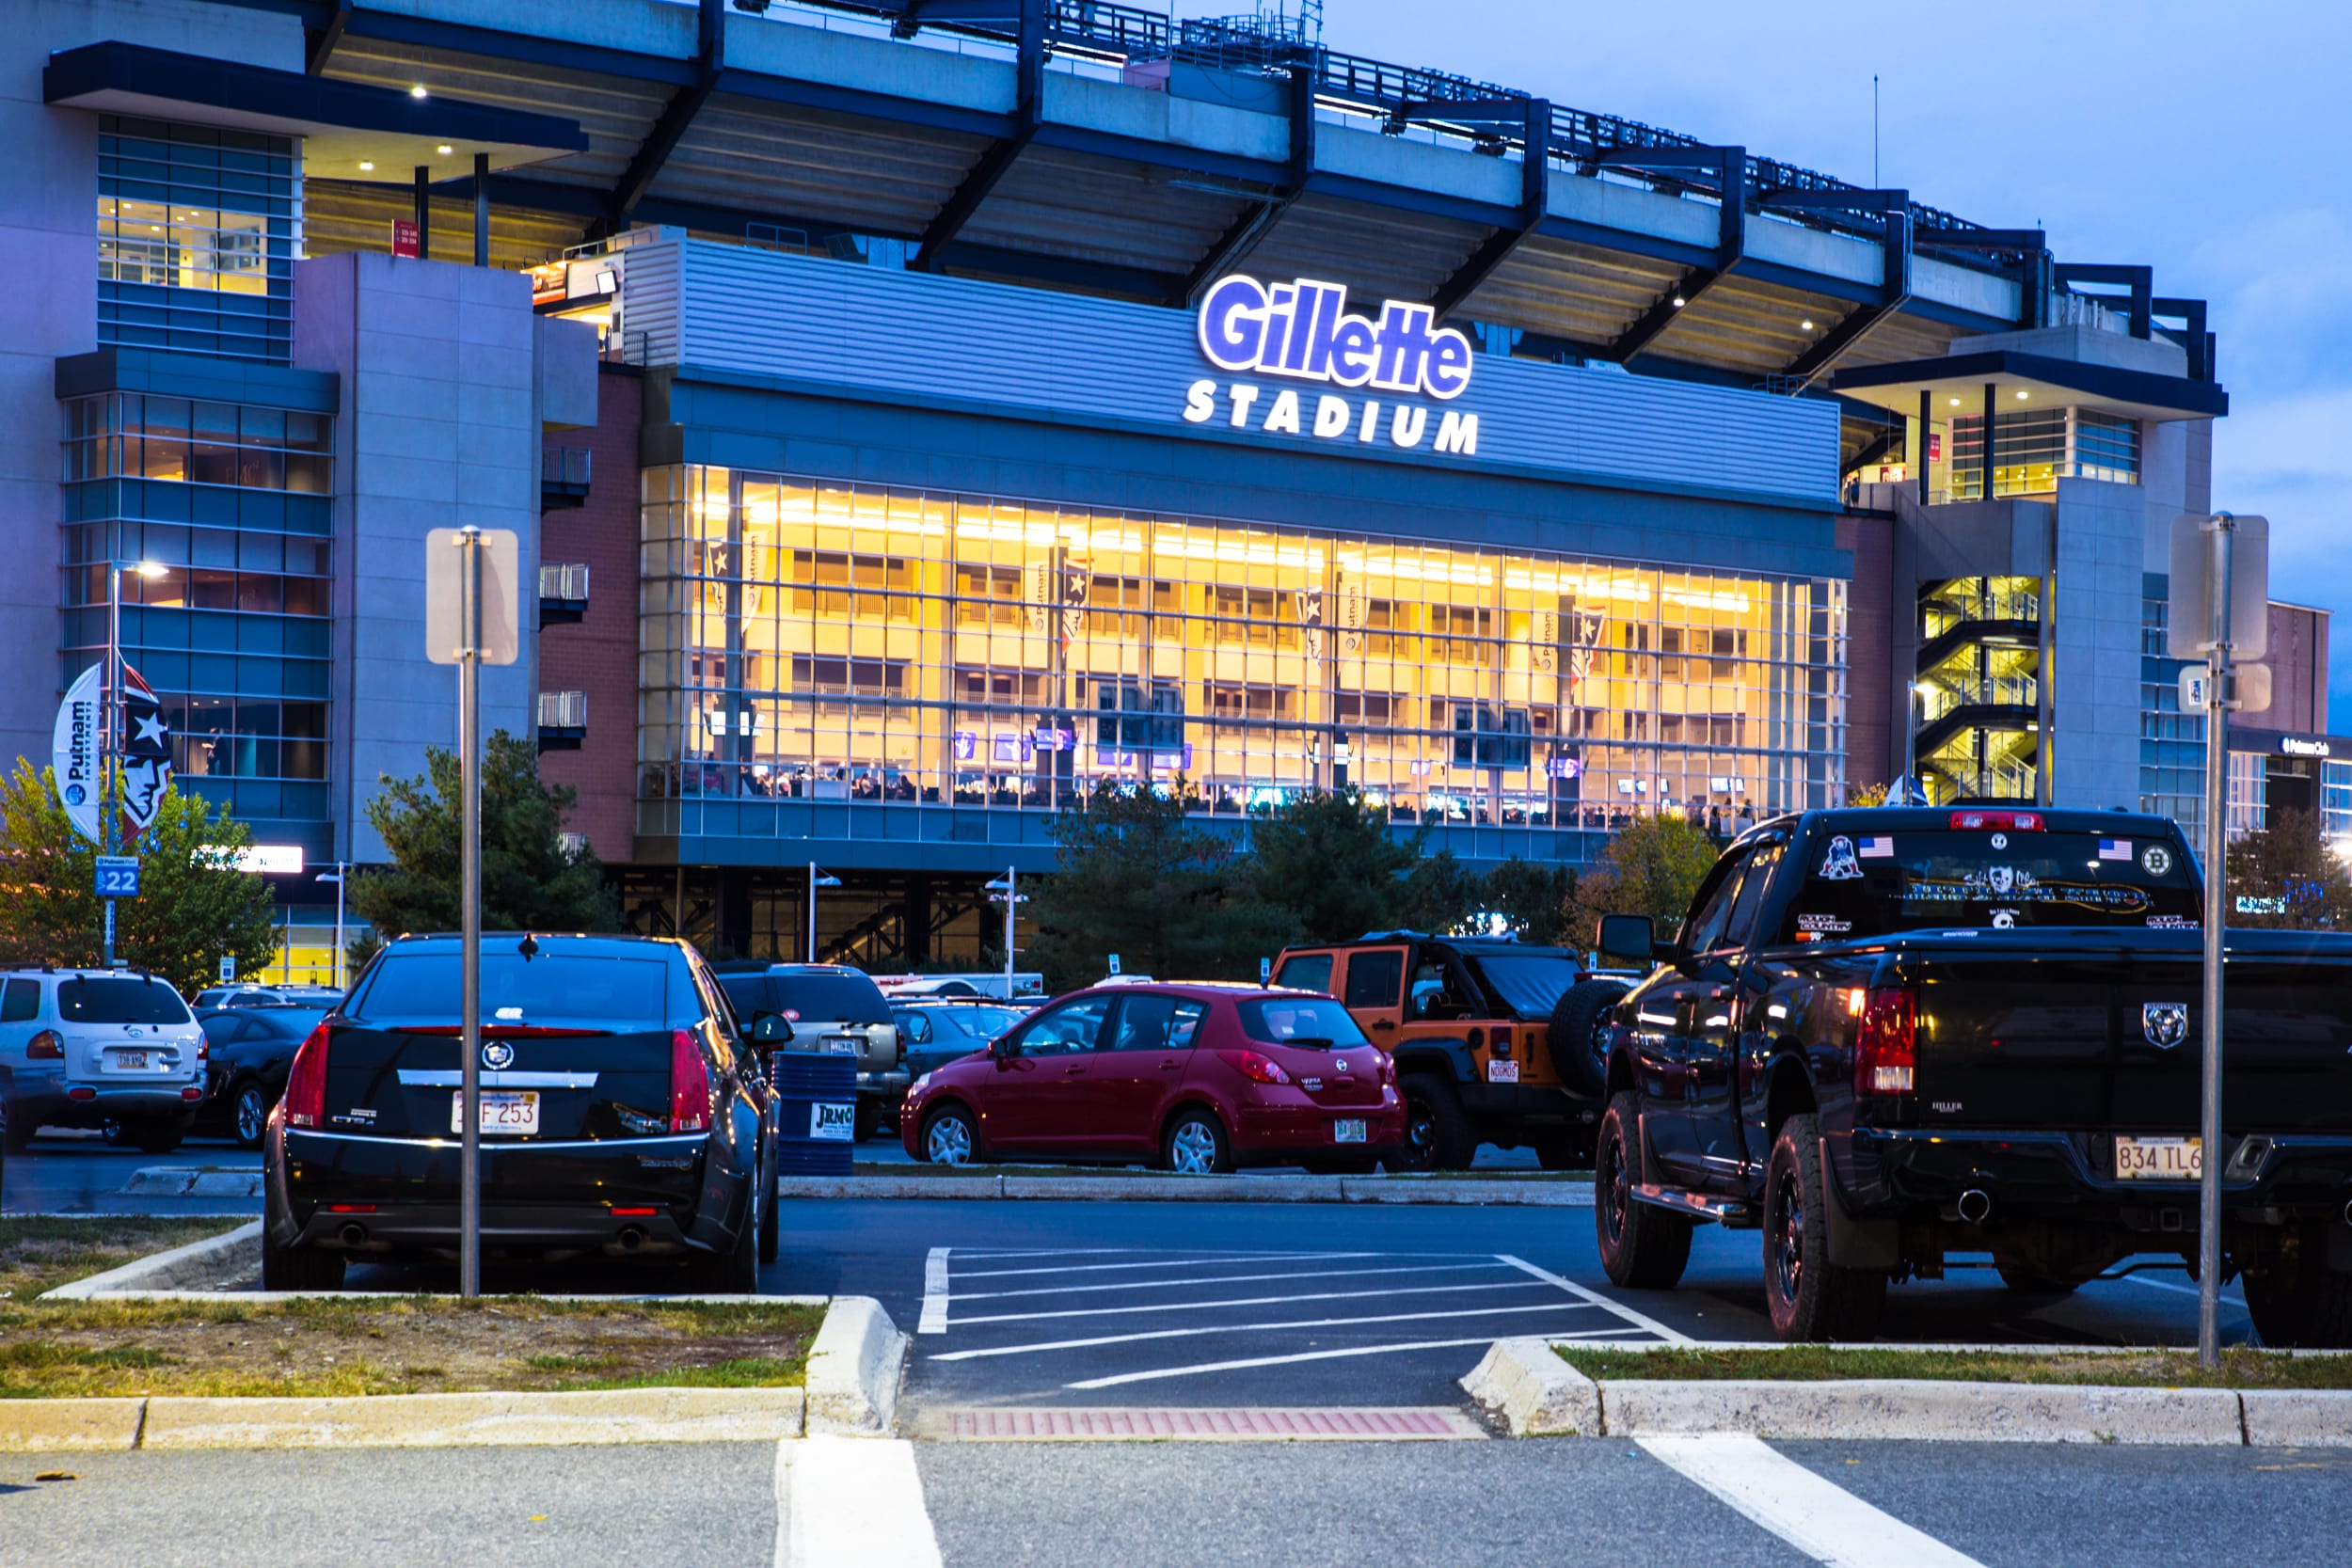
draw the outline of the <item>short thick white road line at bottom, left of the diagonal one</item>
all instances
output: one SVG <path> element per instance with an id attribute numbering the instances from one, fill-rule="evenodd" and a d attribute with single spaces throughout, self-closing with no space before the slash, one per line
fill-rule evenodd
<path id="1" fill-rule="evenodd" d="M 915 1446 L 880 1436 L 776 1443 L 776 1568 L 941 1568 Z"/>

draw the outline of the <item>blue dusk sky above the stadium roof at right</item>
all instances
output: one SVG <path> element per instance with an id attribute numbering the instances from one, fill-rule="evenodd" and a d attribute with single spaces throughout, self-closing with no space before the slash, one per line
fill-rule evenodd
<path id="1" fill-rule="evenodd" d="M 2352 729 L 2352 7 L 1327 0 L 1324 42 L 1858 183 L 1877 73 L 1882 183 L 2211 301 L 2213 503 L 2270 517 L 2272 597 L 2345 616 L 2331 726 Z"/>

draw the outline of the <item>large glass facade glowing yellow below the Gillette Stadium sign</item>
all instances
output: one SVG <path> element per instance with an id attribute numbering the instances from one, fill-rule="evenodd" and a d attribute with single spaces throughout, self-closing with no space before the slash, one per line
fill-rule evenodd
<path id="1" fill-rule="evenodd" d="M 1350 783 L 1399 823 L 1606 830 L 1844 799 L 1839 581 L 680 465 L 644 473 L 642 595 L 644 802 Z"/>

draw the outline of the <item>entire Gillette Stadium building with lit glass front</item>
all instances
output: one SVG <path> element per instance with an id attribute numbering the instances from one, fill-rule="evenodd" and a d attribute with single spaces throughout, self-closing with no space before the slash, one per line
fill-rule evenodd
<path id="1" fill-rule="evenodd" d="M 1056 809 L 1176 778 L 1235 825 L 1357 785 L 1472 863 L 1903 771 L 2197 818 L 2161 571 L 2213 505 L 2206 310 L 2009 214 L 1312 16 L 16 24 L 0 548 L 59 571 L 0 590 L 0 750 L 47 752 L 120 576 L 183 788 L 303 856 L 289 922 L 454 738 L 421 541 L 463 522 L 539 590 L 485 722 L 637 929 L 720 952 L 797 954 L 816 896 L 823 957 L 971 961 Z M 2288 748 L 2326 632 L 2272 611 L 2249 823 L 2352 832 L 2352 750 Z"/>

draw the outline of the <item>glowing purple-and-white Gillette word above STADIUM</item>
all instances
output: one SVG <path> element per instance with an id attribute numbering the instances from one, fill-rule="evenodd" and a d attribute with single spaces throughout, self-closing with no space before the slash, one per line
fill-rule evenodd
<path id="1" fill-rule="evenodd" d="M 1336 282 L 1261 284 L 1221 277 L 1200 306 L 1200 350 L 1223 371 L 1258 371 L 1383 393 L 1461 397 L 1470 386 L 1470 339 L 1439 327 L 1428 306 L 1392 299 L 1381 320 L 1348 313 Z"/>

